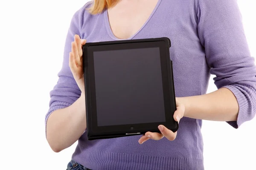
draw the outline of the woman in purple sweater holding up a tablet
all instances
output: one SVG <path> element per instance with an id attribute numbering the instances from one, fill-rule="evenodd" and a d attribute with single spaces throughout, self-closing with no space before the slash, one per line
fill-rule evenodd
<path id="1" fill-rule="evenodd" d="M 88 141 L 81 45 L 155 37 L 172 42 L 179 130 L 160 125 L 161 134 Z M 210 74 L 218 90 L 206 94 Z M 67 169 L 203 170 L 202 119 L 238 128 L 256 112 L 256 67 L 235 0 L 87 3 L 71 20 L 58 76 L 50 92 L 47 141 L 55 152 L 79 141 Z"/>

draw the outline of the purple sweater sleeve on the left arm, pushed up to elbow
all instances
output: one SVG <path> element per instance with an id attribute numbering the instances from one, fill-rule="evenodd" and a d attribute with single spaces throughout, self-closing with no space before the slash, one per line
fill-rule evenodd
<path id="1" fill-rule="evenodd" d="M 70 27 L 67 32 L 64 46 L 64 58 L 62 68 L 58 73 L 58 82 L 50 91 L 49 110 L 45 117 L 45 125 L 50 114 L 58 109 L 66 108 L 72 105 L 81 96 L 81 91 L 73 77 L 69 67 L 69 52 L 71 51 L 71 42 L 74 41 L 74 35 L 80 36 L 79 11 L 73 15 Z"/>

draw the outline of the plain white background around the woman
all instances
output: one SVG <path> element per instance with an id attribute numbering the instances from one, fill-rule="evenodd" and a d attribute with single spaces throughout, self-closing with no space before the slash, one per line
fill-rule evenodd
<path id="1" fill-rule="evenodd" d="M 0 1 L 0 169 L 66 169 L 76 143 L 54 153 L 45 139 L 44 118 L 71 17 L 86 2 Z M 238 3 L 255 57 L 256 3 Z M 208 92 L 215 90 L 211 79 Z M 205 169 L 256 169 L 255 131 L 256 119 L 237 130 L 225 122 L 203 121 Z"/>

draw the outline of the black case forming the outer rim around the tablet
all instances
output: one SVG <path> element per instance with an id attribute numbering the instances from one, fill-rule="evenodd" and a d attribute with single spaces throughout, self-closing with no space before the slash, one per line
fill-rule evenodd
<path id="1" fill-rule="evenodd" d="M 125 136 L 134 136 L 134 135 L 142 135 L 145 134 L 147 131 L 140 131 L 140 134 L 134 133 L 126 135 L 126 132 L 120 132 L 119 134 L 102 134 L 102 133 L 93 133 L 93 128 L 91 126 L 91 115 L 88 114 L 90 112 L 90 89 L 87 88 L 89 86 L 89 74 L 88 74 L 88 61 L 87 61 L 87 48 L 89 46 L 95 46 L 95 45 L 111 45 L 111 44 L 120 44 L 120 43 L 136 43 L 136 42 L 155 42 L 155 41 L 165 41 L 166 42 L 166 55 L 170 56 L 169 48 L 171 47 L 171 41 L 167 37 L 161 37 L 161 38 L 149 38 L 149 39 L 136 39 L 136 40 L 117 40 L 117 41 L 105 41 L 105 42 L 87 42 L 85 45 L 83 45 L 83 64 L 84 64 L 84 88 L 85 88 L 85 105 L 86 105 L 86 121 L 87 121 L 87 138 L 88 140 L 95 140 L 95 139 L 110 139 L 110 138 L 117 138 L 117 137 L 125 137 Z M 175 88 L 174 88 L 174 80 L 173 80 L 173 67 L 172 67 L 172 60 L 170 59 L 170 62 L 167 63 L 169 65 L 168 72 L 169 72 L 169 79 L 171 80 L 170 83 L 172 83 L 172 89 L 170 89 L 170 93 L 172 93 L 174 96 L 172 106 L 174 110 L 176 111 L 176 100 L 175 100 Z M 178 123 L 175 122 L 175 129 L 172 129 L 173 132 L 176 132 L 178 130 Z M 153 132 L 153 131 L 152 131 Z M 159 130 L 156 130 L 154 132 L 160 133 Z"/>

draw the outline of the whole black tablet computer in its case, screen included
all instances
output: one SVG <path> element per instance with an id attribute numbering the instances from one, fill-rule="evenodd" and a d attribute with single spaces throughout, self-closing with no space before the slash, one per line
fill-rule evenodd
<path id="1" fill-rule="evenodd" d="M 177 131 L 170 47 L 166 37 L 83 46 L 89 140 Z"/>

